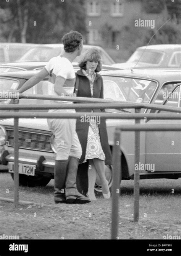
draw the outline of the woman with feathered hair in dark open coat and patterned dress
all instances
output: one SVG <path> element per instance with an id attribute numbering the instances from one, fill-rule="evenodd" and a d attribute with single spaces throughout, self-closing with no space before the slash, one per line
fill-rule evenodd
<path id="1" fill-rule="evenodd" d="M 78 97 L 103 98 L 103 80 L 97 72 L 102 69 L 99 49 L 91 48 L 86 51 L 79 63 L 80 70 L 76 73 L 74 92 Z M 77 109 L 76 112 L 90 112 L 90 109 Z M 100 109 L 92 112 L 101 112 Z M 105 177 L 105 164 L 112 165 L 112 155 L 108 144 L 105 119 L 97 115 L 93 118 L 79 118 L 76 122 L 76 132 L 82 146 L 80 162 L 89 161 L 87 196 L 96 200 L 94 186 L 96 173 L 100 177 L 103 197 L 110 198 L 110 191 Z M 88 120 L 88 121 L 87 121 Z"/>

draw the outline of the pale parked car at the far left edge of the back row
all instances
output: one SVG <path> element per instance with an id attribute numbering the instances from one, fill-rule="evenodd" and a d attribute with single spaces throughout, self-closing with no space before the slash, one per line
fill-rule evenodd
<path id="1" fill-rule="evenodd" d="M 0 64 L 12 62 L 23 56 L 30 48 L 37 44 L 23 43 L 0 43 Z"/>

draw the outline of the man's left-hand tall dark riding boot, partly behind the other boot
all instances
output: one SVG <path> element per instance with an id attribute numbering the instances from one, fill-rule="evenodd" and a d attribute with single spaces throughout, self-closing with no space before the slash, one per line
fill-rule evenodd
<path id="1" fill-rule="evenodd" d="M 55 203 L 65 203 L 65 181 L 66 181 L 66 167 L 68 160 L 55 160 L 54 168 L 54 200 Z"/>

